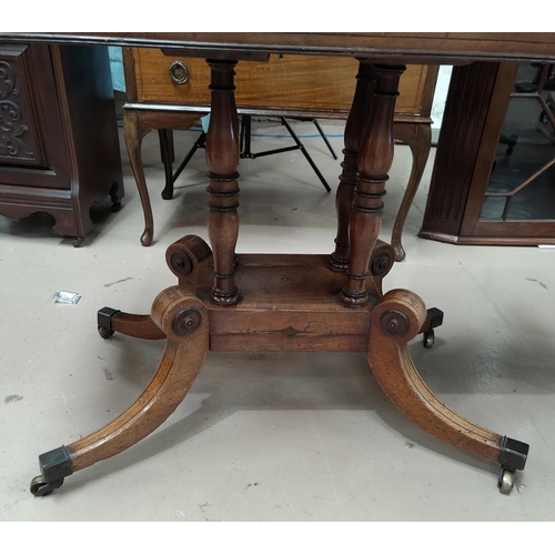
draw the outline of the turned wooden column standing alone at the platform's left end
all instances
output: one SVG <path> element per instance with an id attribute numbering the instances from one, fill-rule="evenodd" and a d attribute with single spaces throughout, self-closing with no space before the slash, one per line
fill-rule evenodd
<path id="1" fill-rule="evenodd" d="M 233 305 L 239 302 L 234 281 L 239 235 L 239 121 L 233 85 L 236 61 L 208 60 L 208 64 L 212 74 L 212 109 L 205 143 L 210 180 L 208 231 L 214 260 L 210 300 Z"/>

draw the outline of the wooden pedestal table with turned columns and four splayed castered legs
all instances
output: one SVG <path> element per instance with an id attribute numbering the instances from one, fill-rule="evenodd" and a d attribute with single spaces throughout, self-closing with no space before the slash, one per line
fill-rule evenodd
<path id="1" fill-rule="evenodd" d="M 425 385 L 408 342 L 433 326 L 424 301 L 383 292 L 393 266 L 379 241 L 387 172 L 393 160 L 397 84 L 408 63 L 555 61 L 555 33 L 0 33 L 1 41 L 152 47 L 206 60 L 211 119 L 206 138 L 210 245 L 185 235 L 169 246 L 178 285 L 162 291 L 151 314 L 113 309 L 99 331 L 164 340 L 159 367 L 137 401 L 110 424 L 40 455 L 31 492 L 43 496 L 69 475 L 111 457 L 160 426 L 181 403 L 209 351 L 363 352 L 393 404 L 421 428 L 500 465 L 509 493 L 528 445 L 471 423 Z M 238 254 L 239 130 L 234 67 L 271 53 L 350 56 L 359 61 L 336 192 L 337 233 L 330 255 Z"/>

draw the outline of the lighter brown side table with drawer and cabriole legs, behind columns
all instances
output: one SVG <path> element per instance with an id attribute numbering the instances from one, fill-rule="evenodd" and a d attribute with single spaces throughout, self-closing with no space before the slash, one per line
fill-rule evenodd
<path id="1" fill-rule="evenodd" d="M 144 245 L 153 239 L 153 216 L 140 160 L 140 143 L 151 130 L 188 129 L 210 109 L 210 67 L 180 51 L 125 48 L 124 131 L 143 201 Z M 354 58 L 273 54 L 269 61 L 240 61 L 235 102 L 240 114 L 346 119 L 353 103 L 359 62 Z M 408 65 L 395 105 L 394 138 L 411 148 L 413 168 L 394 225 L 397 261 L 403 224 L 414 200 L 431 148 L 430 118 L 437 65 Z M 279 83 L 279 85 L 276 85 Z M 161 133 L 161 142 L 168 139 Z M 133 162 L 134 161 L 134 162 Z M 164 159 L 167 180 L 171 162 Z M 165 198 L 165 196 L 164 196 Z"/>

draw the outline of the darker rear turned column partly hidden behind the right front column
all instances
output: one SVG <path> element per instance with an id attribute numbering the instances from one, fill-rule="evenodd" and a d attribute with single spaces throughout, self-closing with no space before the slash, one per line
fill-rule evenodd
<path id="1" fill-rule="evenodd" d="M 335 195 L 337 234 L 335 236 L 335 251 L 331 255 L 329 265 L 337 272 L 345 271 L 349 265 L 349 220 L 351 218 L 356 172 L 359 170 L 359 149 L 369 123 L 375 80 L 374 65 L 361 61 L 356 75 L 353 105 L 351 107 L 345 124 L 345 148 L 343 149 L 343 162 L 341 163 L 343 170 Z"/>

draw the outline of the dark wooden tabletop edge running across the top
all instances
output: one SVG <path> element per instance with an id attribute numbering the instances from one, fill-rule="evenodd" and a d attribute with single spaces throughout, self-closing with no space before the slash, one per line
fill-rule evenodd
<path id="1" fill-rule="evenodd" d="M 555 60 L 555 33 L 389 32 L 389 33 L 244 33 L 113 32 L 0 33 L 0 40 L 122 44 L 189 49 L 191 52 L 304 53 L 366 58 L 403 58 L 403 63 L 443 61 Z M 415 61 L 414 61 L 415 60 Z"/>

